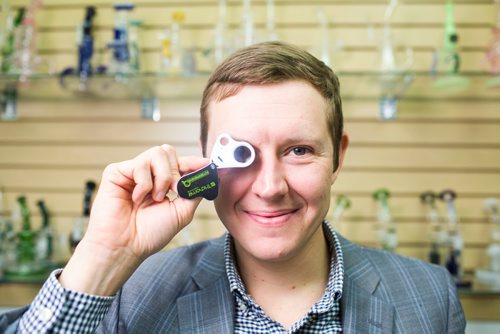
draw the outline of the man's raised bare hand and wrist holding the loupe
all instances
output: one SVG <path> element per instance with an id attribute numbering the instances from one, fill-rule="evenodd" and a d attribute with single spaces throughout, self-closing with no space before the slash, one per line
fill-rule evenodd
<path id="1" fill-rule="evenodd" d="M 112 295 L 139 264 L 165 247 L 193 219 L 201 199 L 166 197 L 181 174 L 208 163 L 177 158 L 168 145 L 106 167 L 87 233 L 63 270 L 61 284 L 73 290 Z"/>

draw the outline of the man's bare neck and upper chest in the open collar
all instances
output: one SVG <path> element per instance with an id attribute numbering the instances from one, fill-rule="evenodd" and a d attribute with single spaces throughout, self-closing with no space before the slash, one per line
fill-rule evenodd
<path id="1" fill-rule="evenodd" d="M 330 252 L 322 226 L 302 249 L 284 260 L 260 261 L 238 250 L 236 245 L 238 269 L 247 292 L 285 328 L 300 320 L 325 292 Z"/>

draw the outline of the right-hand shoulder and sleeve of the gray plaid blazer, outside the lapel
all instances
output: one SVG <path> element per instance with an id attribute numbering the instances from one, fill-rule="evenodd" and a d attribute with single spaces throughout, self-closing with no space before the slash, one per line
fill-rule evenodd
<path id="1" fill-rule="evenodd" d="M 464 332 L 464 313 L 446 268 L 382 250 L 363 252 L 380 276 L 375 295 L 394 305 L 397 331 Z"/>

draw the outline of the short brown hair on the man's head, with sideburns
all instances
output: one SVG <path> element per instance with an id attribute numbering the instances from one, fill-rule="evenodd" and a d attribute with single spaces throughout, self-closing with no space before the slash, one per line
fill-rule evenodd
<path id="1" fill-rule="evenodd" d="M 333 142 L 334 170 L 339 165 L 343 131 L 342 101 L 339 80 L 322 61 L 296 46 L 282 42 L 264 42 L 236 51 L 210 76 L 200 107 L 200 140 L 206 156 L 208 105 L 236 95 L 246 85 L 265 85 L 290 80 L 304 80 L 325 98 L 328 130 Z"/>

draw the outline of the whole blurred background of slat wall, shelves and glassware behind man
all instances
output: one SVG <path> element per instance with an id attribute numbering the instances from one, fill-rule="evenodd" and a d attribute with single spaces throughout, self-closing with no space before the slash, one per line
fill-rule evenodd
<path id="1" fill-rule="evenodd" d="M 500 332 L 499 0 L 0 9 L 0 306 L 29 300 L 22 291 L 64 265 L 107 164 L 163 143 L 199 155 L 209 73 L 242 46 L 279 40 L 340 78 L 350 147 L 332 187 L 336 230 L 447 268 L 472 324 Z M 223 232 L 203 201 L 169 247 Z"/>

